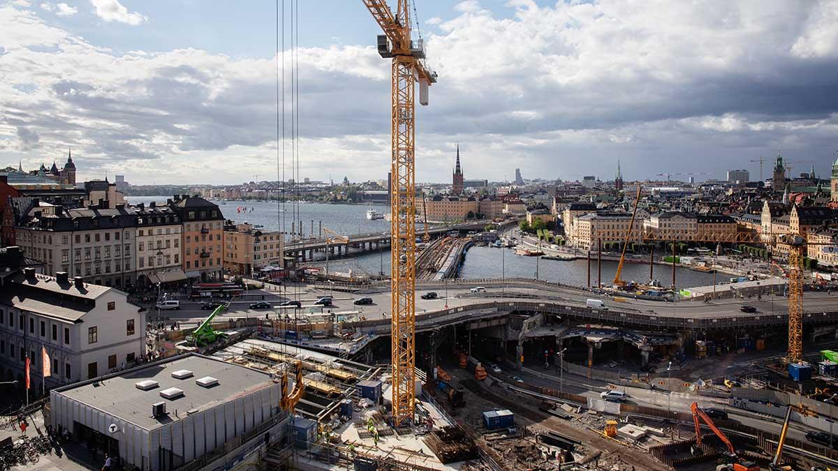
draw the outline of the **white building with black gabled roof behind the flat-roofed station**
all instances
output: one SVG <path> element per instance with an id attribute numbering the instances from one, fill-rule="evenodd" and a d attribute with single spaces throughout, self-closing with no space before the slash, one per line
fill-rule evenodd
<path id="1" fill-rule="evenodd" d="M 116 288 L 66 272 L 38 275 L 33 268 L 0 277 L 0 371 L 5 380 L 23 382 L 27 358 L 35 391 L 44 384 L 52 388 L 132 366 L 145 355 L 145 331 L 145 310 L 128 303 L 127 294 Z"/>

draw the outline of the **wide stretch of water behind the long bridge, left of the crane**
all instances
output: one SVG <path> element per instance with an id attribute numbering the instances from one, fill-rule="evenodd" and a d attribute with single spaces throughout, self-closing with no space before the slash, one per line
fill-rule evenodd
<path id="1" fill-rule="evenodd" d="M 164 203 L 171 196 L 127 196 L 131 204 L 145 203 L 152 201 Z M 215 201 L 226 219 L 235 222 L 249 222 L 261 225 L 265 230 L 280 230 L 282 227 L 282 213 L 277 213 L 276 201 Z M 247 212 L 237 212 L 236 208 L 245 207 Z M 323 227 L 328 227 L 338 234 L 371 234 L 374 232 L 386 232 L 390 230 L 390 222 L 366 219 L 366 211 L 370 208 L 386 214 L 390 212 L 390 206 L 384 204 L 324 204 L 324 203 L 303 203 L 298 204 L 299 216 L 293 216 L 293 204 L 285 204 L 285 230 L 291 232 L 292 220 L 303 220 L 303 234 L 311 235 L 312 220 L 314 220 L 314 235 L 319 236 L 319 224 L 322 221 Z M 251 208 L 253 209 L 251 211 Z M 297 224 L 294 225 L 295 230 Z M 323 236 L 326 234 L 324 233 Z"/>

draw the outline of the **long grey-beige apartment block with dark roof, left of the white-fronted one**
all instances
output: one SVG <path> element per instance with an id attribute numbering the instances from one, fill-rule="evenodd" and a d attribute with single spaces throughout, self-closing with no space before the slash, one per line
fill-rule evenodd
<path id="1" fill-rule="evenodd" d="M 44 274 L 67 272 L 106 287 L 135 281 L 136 218 L 124 204 L 65 209 L 33 199 L 15 228 L 25 256 L 44 263 Z"/>

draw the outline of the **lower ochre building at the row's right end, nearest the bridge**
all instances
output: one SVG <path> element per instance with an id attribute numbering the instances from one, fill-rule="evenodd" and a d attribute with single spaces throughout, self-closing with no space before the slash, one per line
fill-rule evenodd
<path id="1" fill-rule="evenodd" d="M 224 268 L 251 276 L 264 267 L 282 267 L 283 241 L 280 232 L 263 232 L 251 224 L 224 226 Z"/>

